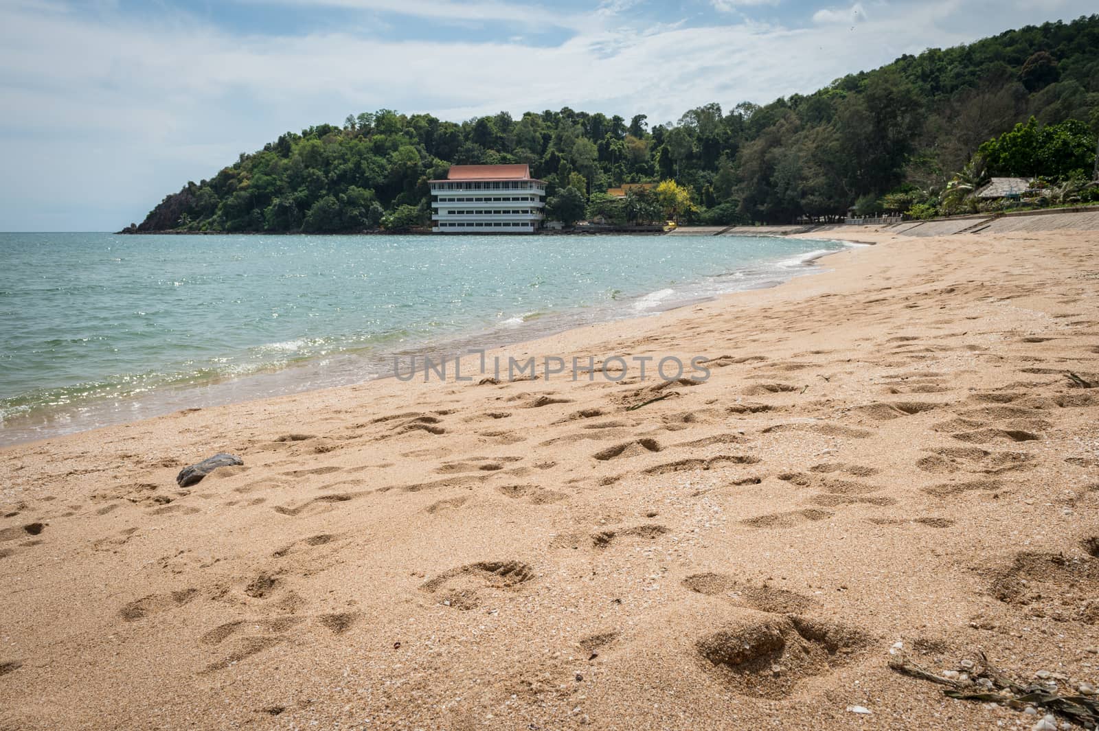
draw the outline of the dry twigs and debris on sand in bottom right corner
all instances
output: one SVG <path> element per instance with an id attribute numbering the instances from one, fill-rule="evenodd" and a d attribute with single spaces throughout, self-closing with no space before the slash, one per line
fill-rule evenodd
<path id="1" fill-rule="evenodd" d="M 947 698 L 997 704 L 1028 716 L 1037 716 L 1041 709 L 1045 716 L 1039 719 L 1034 731 L 1056 730 L 1058 716 L 1085 729 L 1099 728 L 1099 697 L 1059 693 L 1053 673 L 1039 671 L 1034 674 L 1036 683 L 1020 683 L 998 670 L 981 651 L 974 653 L 973 660 L 967 662 L 972 663 L 968 672 L 944 671 L 935 674 L 903 655 L 895 655 L 889 659 L 889 667 L 903 675 L 945 685 L 943 695 Z"/>

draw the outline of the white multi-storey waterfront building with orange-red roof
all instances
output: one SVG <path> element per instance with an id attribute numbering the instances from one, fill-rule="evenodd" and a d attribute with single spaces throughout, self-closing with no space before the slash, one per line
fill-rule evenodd
<path id="1" fill-rule="evenodd" d="M 452 165 L 431 181 L 436 234 L 523 234 L 542 224 L 546 184 L 528 165 Z"/>

